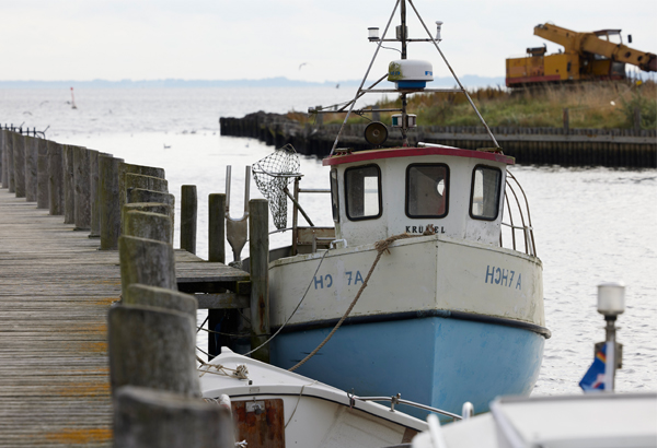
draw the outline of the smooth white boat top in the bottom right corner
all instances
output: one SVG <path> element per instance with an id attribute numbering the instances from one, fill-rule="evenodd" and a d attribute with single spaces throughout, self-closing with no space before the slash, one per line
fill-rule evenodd
<path id="1" fill-rule="evenodd" d="M 655 392 L 504 397 L 491 413 L 445 426 L 443 436 L 450 448 L 643 448 L 655 447 L 656 421 Z"/>

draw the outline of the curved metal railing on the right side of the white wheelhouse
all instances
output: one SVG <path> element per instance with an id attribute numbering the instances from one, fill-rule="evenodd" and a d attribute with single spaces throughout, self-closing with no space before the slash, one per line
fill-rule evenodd
<path id="1" fill-rule="evenodd" d="M 518 191 L 521 198 L 518 194 Z M 509 197 L 512 199 L 510 200 Z M 503 222 L 502 225 L 509 228 L 510 232 L 510 246 L 514 250 L 522 250 L 520 247 L 525 247 L 525 254 L 537 257 L 537 246 L 534 243 L 533 227 L 531 225 L 531 214 L 529 212 L 529 201 L 525 190 L 518 182 L 516 177 L 507 172 L 506 190 L 504 194 L 504 216 L 508 217 L 509 222 Z M 518 221 L 520 221 L 518 223 Z M 520 235 L 518 235 L 520 233 Z M 499 233 L 499 246 L 505 246 L 504 232 Z M 508 243 L 507 243 L 508 244 Z"/>

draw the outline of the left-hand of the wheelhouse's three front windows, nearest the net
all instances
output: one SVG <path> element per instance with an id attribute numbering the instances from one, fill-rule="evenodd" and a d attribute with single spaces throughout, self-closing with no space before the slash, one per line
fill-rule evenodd
<path id="1" fill-rule="evenodd" d="M 381 216 L 381 170 L 377 165 L 345 170 L 347 217 L 351 221 Z"/>

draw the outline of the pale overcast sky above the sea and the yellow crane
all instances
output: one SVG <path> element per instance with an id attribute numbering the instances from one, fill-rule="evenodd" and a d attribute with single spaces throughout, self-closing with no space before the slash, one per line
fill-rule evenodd
<path id="1" fill-rule="evenodd" d="M 394 0 L 0 0 L 0 81 L 361 79 Z M 621 28 L 657 52 L 657 1 L 414 0 L 458 75 L 504 76 L 505 59 L 548 44 L 533 27 Z M 411 37 L 426 37 L 408 7 Z M 394 25 L 397 19 L 395 17 Z M 394 32 L 394 30 L 392 31 Z M 449 75 L 436 49 L 408 57 Z M 370 79 L 399 52 L 382 49 Z"/>

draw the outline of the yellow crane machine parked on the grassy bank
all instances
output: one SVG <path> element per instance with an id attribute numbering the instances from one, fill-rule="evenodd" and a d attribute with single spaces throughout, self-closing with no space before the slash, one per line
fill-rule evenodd
<path id="1" fill-rule="evenodd" d="M 545 55 L 545 46 L 528 48 L 527 57 L 507 59 L 508 87 L 584 80 L 622 80 L 625 79 L 626 63 L 644 71 L 657 71 L 657 57 L 624 45 L 620 30 L 578 33 L 545 23 L 534 27 L 534 35 L 564 49 Z M 632 44 L 632 36 L 627 36 L 627 43 Z"/>

